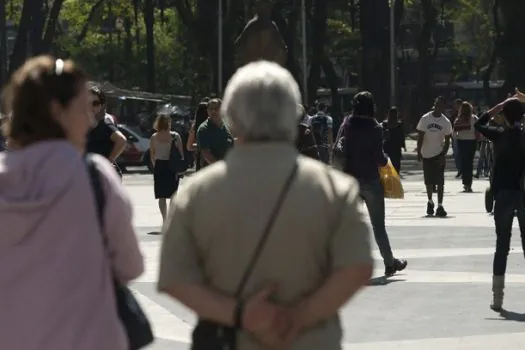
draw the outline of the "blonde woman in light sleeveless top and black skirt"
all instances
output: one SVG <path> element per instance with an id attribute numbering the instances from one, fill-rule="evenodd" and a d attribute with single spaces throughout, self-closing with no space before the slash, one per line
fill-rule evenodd
<path id="1" fill-rule="evenodd" d="M 150 139 L 150 157 L 153 164 L 153 182 L 155 198 L 159 200 L 162 221 L 166 218 L 166 199 L 171 198 L 179 187 L 179 176 L 170 166 L 171 152 L 179 152 L 178 157 L 184 160 L 182 139 L 180 135 L 171 131 L 171 118 L 160 115 L 155 121 L 157 131 Z"/>

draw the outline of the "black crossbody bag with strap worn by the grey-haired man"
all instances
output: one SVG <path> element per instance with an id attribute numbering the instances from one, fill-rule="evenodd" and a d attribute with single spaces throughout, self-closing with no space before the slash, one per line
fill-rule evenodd
<path id="1" fill-rule="evenodd" d="M 295 178 L 297 173 L 297 163 L 294 165 L 292 172 L 286 179 L 284 186 L 279 194 L 275 207 L 270 214 L 266 227 L 259 238 L 259 242 L 255 247 L 255 251 L 252 254 L 252 257 L 248 263 L 248 266 L 244 270 L 242 278 L 237 286 L 235 292 L 235 298 L 240 299 L 241 294 L 244 290 L 248 279 L 259 259 L 259 256 L 262 253 L 264 245 L 267 241 L 268 235 L 270 234 L 275 219 L 279 214 L 281 206 L 286 198 L 288 190 L 291 187 L 292 181 Z M 197 326 L 193 330 L 192 334 L 192 350 L 236 350 L 237 349 L 237 329 L 233 327 L 224 326 L 213 321 L 199 320 Z"/>

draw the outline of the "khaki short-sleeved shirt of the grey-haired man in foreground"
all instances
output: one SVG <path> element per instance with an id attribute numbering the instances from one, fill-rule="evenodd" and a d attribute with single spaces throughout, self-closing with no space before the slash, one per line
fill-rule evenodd
<path id="1" fill-rule="evenodd" d="M 174 197 L 164 226 L 159 288 L 206 283 L 233 296 L 295 162 L 296 178 L 242 296 L 275 281 L 272 299 L 291 305 L 339 268 L 372 264 L 355 179 L 299 157 L 293 145 L 246 144 L 197 172 Z M 338 350 L 341 340 L 334 314 L 305 330 L 290 349 Z M 239 335 L 239 349 L 261 348 L 246 333 Z"/>

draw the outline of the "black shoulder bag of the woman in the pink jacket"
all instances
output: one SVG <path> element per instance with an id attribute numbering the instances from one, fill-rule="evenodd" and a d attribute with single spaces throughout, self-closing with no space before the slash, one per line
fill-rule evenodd
<path id="1" fill-rule="evenodd" d="M 107 251 L 107 237 L 104 234 L 103 221 L 106 202 L 104 190 L 102 188 L 100 174 L 89 154 L 86 156 L 85 161 L 89 178 L 91 180 L 91 186 L 93 188 L 93 194 L 95 196 L 95 203 L 97 205 L 97 218 L 100 225 L 100 232 L 102 233 L 104 248 Z M 135 296 L 127 286 L 120 285 L 114 275 L 112 278 L 115 289 L 117 312 L 120 321 L 126 330 L 129 349 L 138 350 L 153 343 L 155 337 L 153 336 L 150 323 L 142 311 L 140 304 L 135 299 Z"/>

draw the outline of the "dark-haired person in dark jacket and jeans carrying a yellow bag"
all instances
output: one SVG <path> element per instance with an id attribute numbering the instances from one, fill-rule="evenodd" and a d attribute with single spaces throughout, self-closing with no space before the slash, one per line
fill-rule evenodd
<path id="1" fill-rule="evenodd" d="M 385 194 L 379 179 L 378 168 L 388 162 L 383 152 L 383 130 L 375 119 L 375 102 L 368 91 L 359 92 L 353 100 L 354 111 L 342 126 L 344 141 L 343 171 L 359 182 L 374 237 L 385 264 L 385 276 L 392 276 L 407 266 L 406 260 L 397 259 L 392 253 L 385 227 Z"/>

